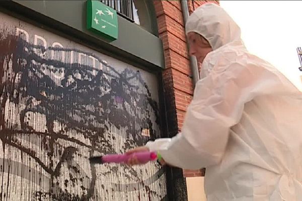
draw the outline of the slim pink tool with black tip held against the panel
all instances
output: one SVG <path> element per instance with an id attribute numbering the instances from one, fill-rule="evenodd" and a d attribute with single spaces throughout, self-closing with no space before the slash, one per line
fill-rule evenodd
<path id="1" fill-rule="evenodd" d="M 91 163 L 126 163 L 130 158 L 136 157 L 136 159 L 141 163 L 146 163 L 149 161 L 154 161 L 156 159 L 160 160 L 161 155 L 156 152 L 136 152 L 132 154 L 107 154 L 104 156 L 93 156 L 89 160 Z"/>

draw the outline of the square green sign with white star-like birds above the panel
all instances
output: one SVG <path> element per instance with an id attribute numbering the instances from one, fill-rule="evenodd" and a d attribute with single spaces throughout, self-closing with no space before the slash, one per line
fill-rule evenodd
<path id="1" fill-rule="evenodd" d="M 116 11 L 100 1 L 87 1 L 87 29 L 100 34 L 109 41 L 118 37 Z"/>

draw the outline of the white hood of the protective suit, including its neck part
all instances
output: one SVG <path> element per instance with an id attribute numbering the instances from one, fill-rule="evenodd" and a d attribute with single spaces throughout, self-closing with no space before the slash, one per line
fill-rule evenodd
<path id="1" fill-rule="evenodd" d="M 200 78 L 206 77 L 221 55 L 227 52 L 246 52 L 241 40 L 241 30 L 221 7 L 207 3 L 196 9 L 186 22 L 186 35 L 195 32 L 203 36 L 213 51 L 203 60 Z M 235 56 L 235 55 L 234 55 Z"/>

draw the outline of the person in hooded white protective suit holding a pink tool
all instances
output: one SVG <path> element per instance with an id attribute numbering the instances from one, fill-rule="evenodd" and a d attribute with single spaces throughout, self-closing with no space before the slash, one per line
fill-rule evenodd
<path id="1" fill-rule="evenodd" d="M 247 51 L 240 28 L 219 6 L 194 11 L 186 35 L 205 76 L 196 83 L 181 133 L 127 153 L 158 151 L 171 166 L 205 167 L 207 201 L 301 201 L 300 91 Z M 197 36 L 210 48 L 200 40 L 197 47 Z M 140 163 L 131 158 L 128 164 Z"/>

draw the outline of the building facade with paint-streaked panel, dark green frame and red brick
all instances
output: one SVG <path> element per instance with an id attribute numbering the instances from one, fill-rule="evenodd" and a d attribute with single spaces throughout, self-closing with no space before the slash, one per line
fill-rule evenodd
<path id="1" fill-rule="evenodd" d="M 88 2 L 0 3 L 1 199 L 188 200 L 202 170 L 88 158 L 180 131 L 194 87 L 184 7 L 218 1 L 95 1 L 108 8 L 91 20 L 116 38 L 88 28 Z"/>

